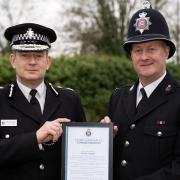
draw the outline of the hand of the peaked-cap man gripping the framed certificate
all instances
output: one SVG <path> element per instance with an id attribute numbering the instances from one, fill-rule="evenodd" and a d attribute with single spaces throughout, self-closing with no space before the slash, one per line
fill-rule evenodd
<path id="1" fill-rule="evenodd" d="M 46 121 L 36 132 L 38 144 L 46 143 L 48 141 L 56 142 L 63 132 L 62 123 L 67 122 L 70 122 L 70 120 L 66 118 L 58 118 L 54 121 Z"/>

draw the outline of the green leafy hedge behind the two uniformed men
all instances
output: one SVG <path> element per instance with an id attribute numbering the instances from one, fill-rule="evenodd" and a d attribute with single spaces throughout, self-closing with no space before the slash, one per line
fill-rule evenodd
<path id="1" fill-rule="evenodd" d="M 180 79 L 180 65 L 168 64 L 168 69 Z M 0 61 L 0 85 L 14 79 L 7 57 Z M 46 79 L 52 84 L 79 92 L 89 121 L 106 115 L 108 100 L 116 87 L 136 80 L 130 60 L 126 57 L 75 56 L 53 60 Z"/>

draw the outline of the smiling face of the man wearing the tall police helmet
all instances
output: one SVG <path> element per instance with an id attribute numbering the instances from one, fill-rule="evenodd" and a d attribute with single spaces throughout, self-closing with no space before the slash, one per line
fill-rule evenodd
<path id="1" fill-rule="evenodd" d="M 169 47 L 160 40 L 132 44 L 132 63 L 144 85 L 163 75 L 168 55 Z"/>

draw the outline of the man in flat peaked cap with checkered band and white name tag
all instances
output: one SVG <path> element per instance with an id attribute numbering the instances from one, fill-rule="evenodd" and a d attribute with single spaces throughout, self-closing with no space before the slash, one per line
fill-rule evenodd
<path id="1" fill-rule="evenodd" d="M 16 80 L 0 89 L 0 177 L 61 179 L 62 124 L 85 121 L 79 94 L 44 80 L 54 30 L 24 23 L 5 30 Z"/>

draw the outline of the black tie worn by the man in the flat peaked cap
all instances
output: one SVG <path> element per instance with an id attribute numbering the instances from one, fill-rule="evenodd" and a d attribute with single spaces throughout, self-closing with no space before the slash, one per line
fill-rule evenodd
<path id="1" fill-rule="evenodd" d="M 37 112 L 37 114 L 38 114 L 38 119 L 40 119 L 41 116 L 42 116 L 42 113 L 41 113 L 41 107 L 40 107 L 39 101 L 38 101 L 37 98 L 36 98 L 36 93 L 37 93 L 37 90 L 36 90 L 36 89 L 32 89 L 32 90 L 30 91 L 30 95 L 31 95 L 30 104 L 32 104 L 33 108 L 34 108 L 35 111 Z"/>

